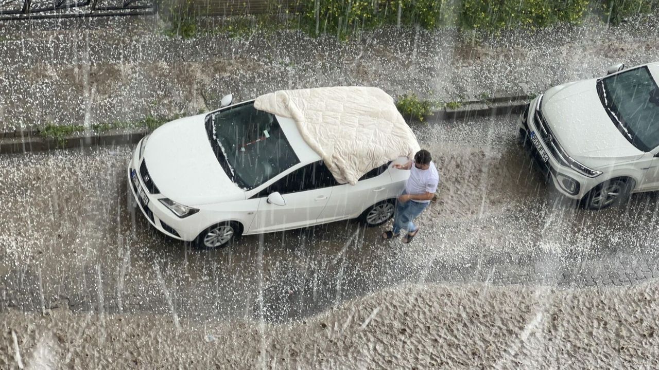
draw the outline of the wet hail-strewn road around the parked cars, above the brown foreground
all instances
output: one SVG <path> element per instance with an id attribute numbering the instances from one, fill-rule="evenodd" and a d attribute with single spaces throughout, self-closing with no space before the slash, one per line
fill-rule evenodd
<path id="1" fill-rule="evenodd" d="M 0 312 L 281 322 L 404 282 L 577 288 L 659 277 L 657 194 L 598 212 L 562 201 L 517 144 L 516 122 L 413 124 L 442 185 L 409 245 L 348 221 L 195 250 L 132 207 L 132 147 L 2 155 Z"/>

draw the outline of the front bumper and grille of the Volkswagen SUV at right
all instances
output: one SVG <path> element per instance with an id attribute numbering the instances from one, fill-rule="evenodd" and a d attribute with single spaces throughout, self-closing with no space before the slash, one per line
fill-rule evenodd
<path id="1" fill-rule="evenodd" d="M 531 157 L 535 167 L 542 173 L 544 180 L 554 184 L 554 187 L 567 198 L 581 199 L 596 185 L 596 180 L 573 169 L 561 166 L 552 156 L 546 143 L 540 140 L 540 146 L 548 156 L 548 160 L 545 161 L 530 138 L 531 132 L 538 132 L 533 117 L 539 98 L 536 97 L 536 99 L 533 99 L 519 117 L 520 141 Z"/>

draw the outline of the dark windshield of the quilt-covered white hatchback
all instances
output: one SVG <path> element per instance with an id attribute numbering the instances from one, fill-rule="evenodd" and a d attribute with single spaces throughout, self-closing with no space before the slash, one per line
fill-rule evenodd
<path id="1" fill-rule="evenodd" d="M 246 190 L 300 162 L 277 118 L 253 102 L 211 113 L 206 132 L 220 165 Z"/>

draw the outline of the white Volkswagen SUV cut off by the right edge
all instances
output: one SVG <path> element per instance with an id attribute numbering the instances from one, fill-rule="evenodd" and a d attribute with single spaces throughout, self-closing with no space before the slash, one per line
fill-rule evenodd
<path id="1" fill-rule="evenodd" d="M 587 209 L 659 190 L 659 63 L 570 82 L 533 99 L 520 138 L 547 179 Z"/>

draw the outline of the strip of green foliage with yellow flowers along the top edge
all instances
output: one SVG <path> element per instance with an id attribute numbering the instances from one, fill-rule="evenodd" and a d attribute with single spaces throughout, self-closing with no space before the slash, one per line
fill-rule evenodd
<path id="1" fill-rule="evenodd" d="M 192 38 L 201 32 L 235 38 L 254 30 L 300 29 L 312 36 L 333 34 L 346 40 L 362 30 L 384 25 L 433 30 L 459 26 L 497 32 L 503 28 L 543 28 L 558 22 L 578 24 L 588 13 L 619 24 L 636 14 L 659 11 L 659 0 L 296 0 L 295 18 L 281 2 L 268 0 L 266 14 L 228 16 L 221 26 L 205 25 L 198 0 L 165 0 L 160 13 L 170 36 Z M 200 23 L 201 21 L 201 23 Z"/>

